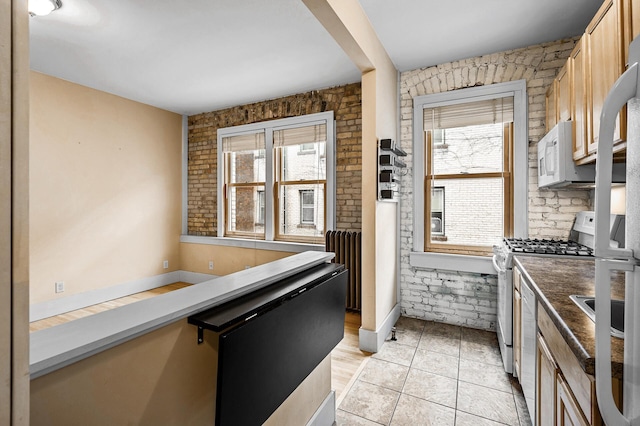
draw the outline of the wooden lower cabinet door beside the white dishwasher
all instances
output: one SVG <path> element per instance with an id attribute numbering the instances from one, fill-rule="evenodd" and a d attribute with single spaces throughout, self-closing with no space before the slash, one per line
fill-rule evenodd
<path id="1" fill-rule="evenodd" d="M 538 334 L 536 396 L 539 426 L 554 426 L 556 419 L 556 376 L 558 367 L 542 337 Z"/>

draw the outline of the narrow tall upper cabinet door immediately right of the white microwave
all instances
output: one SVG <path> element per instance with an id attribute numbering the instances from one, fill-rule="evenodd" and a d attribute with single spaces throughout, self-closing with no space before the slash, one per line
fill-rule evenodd
<path id="1" fill-rule="evenodd" d="M 571 92 L 573 120 L 573 159 L 580 160 L 587 156 L 587 139 L 589 138 L 589 116 L 587 111 L 587 37 L 582 36 L 576 43 L 569 60 L 572 63 L 573 90 Z"/>

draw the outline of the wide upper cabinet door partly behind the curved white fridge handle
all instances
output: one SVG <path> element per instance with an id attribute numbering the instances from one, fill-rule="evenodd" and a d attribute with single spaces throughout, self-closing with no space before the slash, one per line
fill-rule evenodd
<path id="1" fill-rule="evenodd" d="M 605 0 L 598 13 L 587 27 L 589 38 L 589 63 L 591 77 L 591 140 L 588 152 L 594 153 L 598 149 L 598 135 L 600 132 L 600 114 L 604 100 L 611 87 L 622 74 L 622 0 Z M 624 138 L 620 123 L 621 114 L 617 119 L 614 141 Z"/>

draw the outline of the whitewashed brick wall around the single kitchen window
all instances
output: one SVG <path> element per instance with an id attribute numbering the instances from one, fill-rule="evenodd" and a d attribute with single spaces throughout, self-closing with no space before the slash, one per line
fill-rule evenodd
<path id="1" fill-rule="evenodd" d="M 566 238 L 576 211 L 590 206 L 588 191 L 539 191 L 536 144 L 545 134 L 545 92 L 576 39 L 450 62 L 403 72 L 401 147 L 409 153 L 401 189 L 401 306 L 406 316 L 493 330 L 497 279 L 494 275 L 415 269 L 413 247 L 413 98 L 415 96 L 526 79 L 529 97 L 529 234 Z"/>

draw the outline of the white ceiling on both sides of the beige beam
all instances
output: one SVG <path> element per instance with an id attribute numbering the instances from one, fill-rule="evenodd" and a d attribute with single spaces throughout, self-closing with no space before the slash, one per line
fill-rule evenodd
<path id="1" fill-rule="evenodd" d="M 180 114 L 360 81 L 302 0 L 62 0 L 31 68 Z M 360 0 L 400 71 L 581 34 L 602 0 Z"/>

